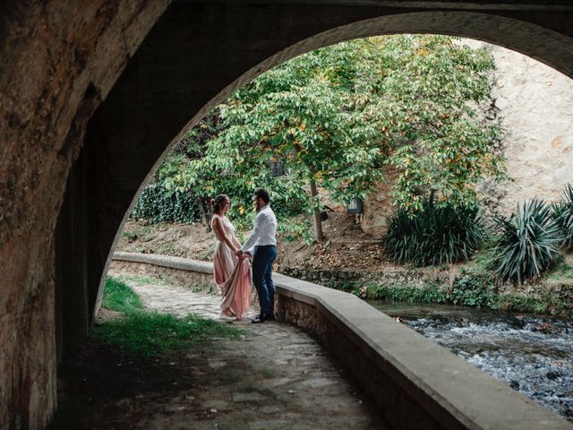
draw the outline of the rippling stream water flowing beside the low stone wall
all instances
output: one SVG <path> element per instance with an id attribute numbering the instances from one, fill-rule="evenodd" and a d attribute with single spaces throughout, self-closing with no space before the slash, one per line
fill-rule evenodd
<path id="1" fill-rule="evenodd" d="M 368 303 L 573 421 L 573 322 L 465 306 Z"/>

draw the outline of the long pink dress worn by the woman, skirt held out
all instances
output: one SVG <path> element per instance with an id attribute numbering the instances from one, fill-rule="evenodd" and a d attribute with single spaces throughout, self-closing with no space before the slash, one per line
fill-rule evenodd
<path id="1" fill-rule="evenodd" d="M 213 215 L 213 219 L 221 219 L 227 237 L 235 235 L 235 227 L 227 217 Z M 211 226 L 212 226 L 211 220 Z M 213 273 L 215 282 L 221 294 L 221 312 L 227 316 L 236 316 L 242 320 L 251 305 L 251 264 L 248 258 L 240 260 L 228 245 L 221 240 L 217 231 L 213 228 L 217 238 L 215 254 L 213 254 Z"/>

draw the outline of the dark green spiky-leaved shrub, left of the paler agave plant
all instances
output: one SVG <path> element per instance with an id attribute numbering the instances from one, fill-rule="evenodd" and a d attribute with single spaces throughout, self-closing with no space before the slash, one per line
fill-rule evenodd
<path id="1" fill-rule="evenodd" d="M 476 206 L 438 206 L 431 195 L 421 211 L 399 209 L 389 218 L 382 245 L 393 261 L 416 267 L 465 261 L 483 244 L 477 211 Z"/>

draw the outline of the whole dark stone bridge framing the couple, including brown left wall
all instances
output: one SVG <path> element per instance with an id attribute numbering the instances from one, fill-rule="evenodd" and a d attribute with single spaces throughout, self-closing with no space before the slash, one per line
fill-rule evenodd
<path id="1" fill-rule="evenodd" d="M 50 422 L 57 363 L 171 142 L 273 65 L 392 33 L 481 39 L 573 76 L 569 0 L 0 4 L 0 427 Z"/>

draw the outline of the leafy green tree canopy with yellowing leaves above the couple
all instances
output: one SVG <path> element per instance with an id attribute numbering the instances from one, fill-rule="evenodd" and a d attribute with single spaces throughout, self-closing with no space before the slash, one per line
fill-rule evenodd
<path id="1" fill-rule="evenodd" d="M 364 198 L 398 170 L 395 202 L 421 208 L 432 189 L 448 204 L 474 202 L 474 185 L 502 174 L 492 142 L 500 128 L 476 104 L 487 99 L 492 57 L 443 36 L 357 39 L 281 64 L 237 90 L 189 132 L 192 156 L 161 168 L 167 187 L 241 196 L 268 187 L 280 214 L 319 204 L 315 181 L 338 202 Z M 194 152 L 193 152 L 194 151 Z M 289 174 L 273 177 L 280 160 Z M 440 204 L 440 203 L 438 203 Z M 234 214 L 244 213 L 241 204 Z"/>

